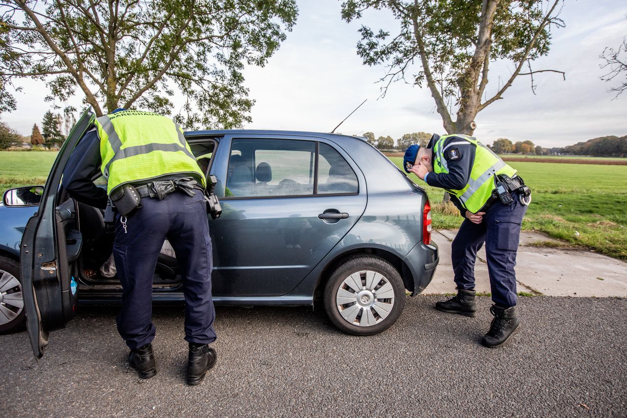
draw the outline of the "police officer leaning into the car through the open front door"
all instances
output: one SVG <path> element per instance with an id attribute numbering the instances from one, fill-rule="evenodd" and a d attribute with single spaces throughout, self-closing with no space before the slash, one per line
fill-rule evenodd
<path id="1" fill-rule="evenodd" d="M 107 179 L 107 192 L 92 182 L 99 170 Z M 157 374 L 152 277 L 166 238 L 181 267 L 186 301 L 187 383 L 199 384 L 216 362 L 216 352 L 209 348 L 216 333 L 205 186 L 181 127 L 137 110 L 118 109 L 97 118 L 63 172 L 63 187 L 71 197 L 101 209 L 113 202 L 117 208 L 113 256 L 122 284 L 117 327 L 130 348 L 129 365 L 143 379 Z"/>

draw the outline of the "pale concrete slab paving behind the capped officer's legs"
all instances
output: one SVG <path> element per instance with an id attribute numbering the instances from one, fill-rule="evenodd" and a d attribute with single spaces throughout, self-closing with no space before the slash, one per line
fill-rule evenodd
<path id="1" fill-rule="evenodd" d="M 451 229 L 434 231 L 440 264 L 424 294 L 456 292 L 451 264 L 451 242 L 456 234 Z M 542 246 L 546 242 L 563 246 Z M 484 248 L 477 254 L 475 278 L 478 293 L 490 293 Z M 627 297 L 627 263 L 589 249 L 572 248 L 568 243 L 533 231 L 520 234 L 516 279 L 518 292 L 526 295 Z"/>

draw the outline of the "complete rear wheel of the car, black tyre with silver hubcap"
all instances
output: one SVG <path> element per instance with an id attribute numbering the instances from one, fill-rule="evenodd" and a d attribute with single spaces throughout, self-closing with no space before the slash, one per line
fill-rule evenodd
<path id="1" fill-rule="evenodd" d="M 372 290 L 367 288 L 369 280 L 366 279 L 366 271 L 376 273 L 374 276 L 369 276 L 372 277 L 370 279 L 371 283 L 374 283 L 376 280 L 376 283 L 370 285 Z M 357 283 L 353 287 L 345 283 L 345 280 L 349 280 L 354 273 L 359 273 L 359 278 L 361 278 L 361 291 L 353 288 L 357 286 Z M 380 274 L 380 276 L 377 276 L 377 274 Z M 350 296 L 347 298 L 340 296 L 340 299 L 337 299 L 340 289 L 354 294 L 356 300 L 354 302 L 349 301 Z M 377 295 L 377 291 L 382 293 Z M 344 293 L 344 295 L 347 294 Z M 381 296 L 390 295 L 392 295 L 391 298 L 381 298 Z M 347 301 L 347 303 L 339 304 L 343 300 Z M 375 303 L 376 306 L 374 305 Z M 385 311 L 382 310 L 383 306 L 386 309 L 391 307 L 387 316 L 379 315 L 379 313 L 386 315 Z M 405 286 L 401 275 L 392 264 L 377 256 L 353 256 L 342 261 L 331 274 L 324 290 L 324 308 L 327 311 L 327 316 L 329 316 L 329 319 L 337 328 L 352 335 L 374 335 L 387 330 L 396 322 L 404 307 Z M 350 318 L 356 312 L 356 318 L 350 321 Z M 343 314 L 347 315 L 348 318 L 344 318 Z M 364 318 L 364 315 L 366 315 L 366 318 Z M 364 321 L 366 325 L 364 325 Z M 368 322 L 372 323 L 372 325 L 368 325 Z"/>

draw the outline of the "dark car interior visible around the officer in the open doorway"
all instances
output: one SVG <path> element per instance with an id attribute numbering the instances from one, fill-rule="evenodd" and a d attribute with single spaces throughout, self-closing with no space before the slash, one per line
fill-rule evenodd
<path id="1" fill-rule="evenodd" d="M 215 145 L 213 140 L 190 144 L 199 167 L 206 175 L 211 168 L 211 157 Z M 92 180 L 98 187 L 106 187 L 106 180 L 100 172 Z M 60 242 L 65 239 L 65 253 L 67 264 L 71 269 L 70 274 L 81 278 L 83 286 L 120 289 L 117 276 L 107 277 L 100 271 L 112 254 L 115 238 L 113 225 L 104 222 L 104 211 L 71 199 L 63 187 L 58 194 L 58 202 L 56 207 L 57 233 Z M 115 269 L 114 264 L 110 267 Z M 180 283 L 181 276 L 176 255 L 166 240 L 157 261 L 153 287 L 168 289 L 177 287 Z"/>

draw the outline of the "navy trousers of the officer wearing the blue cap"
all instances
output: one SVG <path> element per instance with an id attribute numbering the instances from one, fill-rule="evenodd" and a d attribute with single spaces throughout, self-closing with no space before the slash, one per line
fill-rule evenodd
<path id="1" fill-rule="evenodd" d="M 518 194 L 512 194 L 509 206 L 500 201 L 493 204 L 481 224 L 464 219 L 453 239 L 452 259 L 455 283 L 458 289 L 475 288 L 475 261 L 477 251 L 485 242 L 485 253 L 490 275 L 492 301 L 504 308 L 516 305 L 516 252 L 520 239 L 520 225 L 527 206 L 520 203 Z"/>

